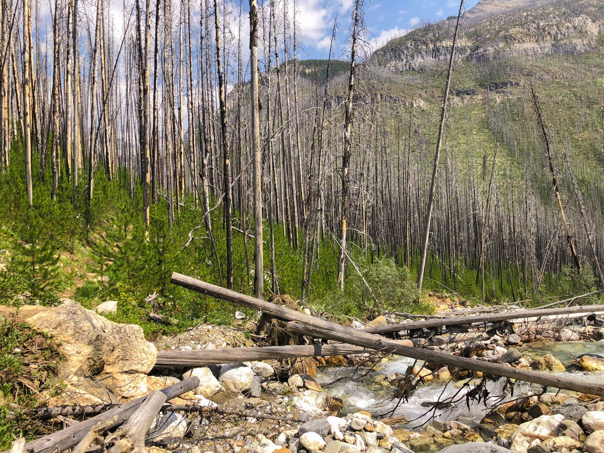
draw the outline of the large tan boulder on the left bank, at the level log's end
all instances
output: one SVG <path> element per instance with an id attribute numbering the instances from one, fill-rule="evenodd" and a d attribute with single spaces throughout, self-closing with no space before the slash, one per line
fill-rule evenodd
<path id="1" fill-rule="evenodd" d="M 157 356 L 143 329 L 107 320 L 73 301 L 28 318 L 39 332 L 47 332 L 62 360 L 59 377 L 69 374 L 149 373 Z"/>

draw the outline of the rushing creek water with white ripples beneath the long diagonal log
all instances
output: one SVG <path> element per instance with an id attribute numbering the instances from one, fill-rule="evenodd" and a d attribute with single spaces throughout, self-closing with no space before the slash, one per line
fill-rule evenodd
<path id="1" fill-rule="evenodd" d="M 553 368 L 553 371 L 542 371 L 543 373 L 562 374 L 585 382 L 604 382 L 604 341 L 536 341 L 517 349 L 528 363 L 534 364 L 531 361 L 539 361 L 544 356 L 551 355 L 566 368 Z M 579 365 L 579 362 L 583 366 Z M 541 393 L 541 388 L 533 387 L 528 382 L 516 382 L 512 392 L 506 387 L 506 379 L 502 377 L 486 382 L 486 392 L 479 402 L 477 399 L 466 399 L 466 395 L 475 391 L 482 379 L 467 377 L 446 382 L 445 379 L 439 379 L 437 373 L 428 382 L 417 385 L 416 390 L 406 395 L 406 398 L 393 391 L 396 387 L 387 385 L 393 379 L 404 376 L 408 367 L 415 367 L 417 371 L 422 369 L 423 365 L 422 361 L 391 356 L 375 369 L 352 366 L 323 367 L 320 368 L 316 380 L 330 396 L 342 399 L 345 413 L 366 410 L 382 417 L 405 416 L 409 420 L 404 423 L 407 429 L 419 427 L 431 420 L 477 423 L 493 410 L 496 403 Z M 557 392 L 554 388 L 548 390 Z M 564 393 L 568 397 L 580 396 L 572 391 Z M 451 399 L 456 402 L 448 403 Z M 435 408 L 437 402 L 444 404 Z"/>

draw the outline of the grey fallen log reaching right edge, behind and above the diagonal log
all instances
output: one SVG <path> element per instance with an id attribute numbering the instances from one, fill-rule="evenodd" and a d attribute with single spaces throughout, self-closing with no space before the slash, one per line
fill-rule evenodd
<path id="1" fill-rule="evenodd" d="M 451 317 L 425 321 L 413 321 L 411 323 L 388 324 L 387 326 L 365 329 L 365 332 L 388 333 L 397 332 L 399 330 L 429 329 L 431 327 L 460 326 L 461 324 L 472 323 L 496 323 L 498 321 L 522 320 L 526 318 L 534 318 L 534 320 L 537 320 L 539 318 L 544 318 L 545 316 L 582 315 L 586 313 L 600 312 L 603 310 L 604 305 L 518 310 L 514 312 L 494 313 L 492 315 L 460 316 L 455 318 Z"/>

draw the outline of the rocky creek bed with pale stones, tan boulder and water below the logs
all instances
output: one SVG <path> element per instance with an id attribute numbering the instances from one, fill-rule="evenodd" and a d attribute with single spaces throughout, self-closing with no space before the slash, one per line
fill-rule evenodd
<path id="1" fill-rule="evenodd" d="M 42 392 L 43 405 L 127 402 L 199 378 L 197 388 L 171 401 L 195 410 L 160 413 L 148 451 L 604 453 L 604 403 L 585 394 L 379 354 L 158 369 L 157 349 L 249 346 L 253 337 L 200 325 L 153 345 L 137 326 L 111 323 L 73 301 L 26 308 L 20 316 L 47 332 L 63 356 L 62 393 Z M 370 324 L 393 321 L 381 316 Z M 603 382 L 600 327 L 516 330 L 476 332 L 467 341 L 451 335 L 404 341 Z"/>

